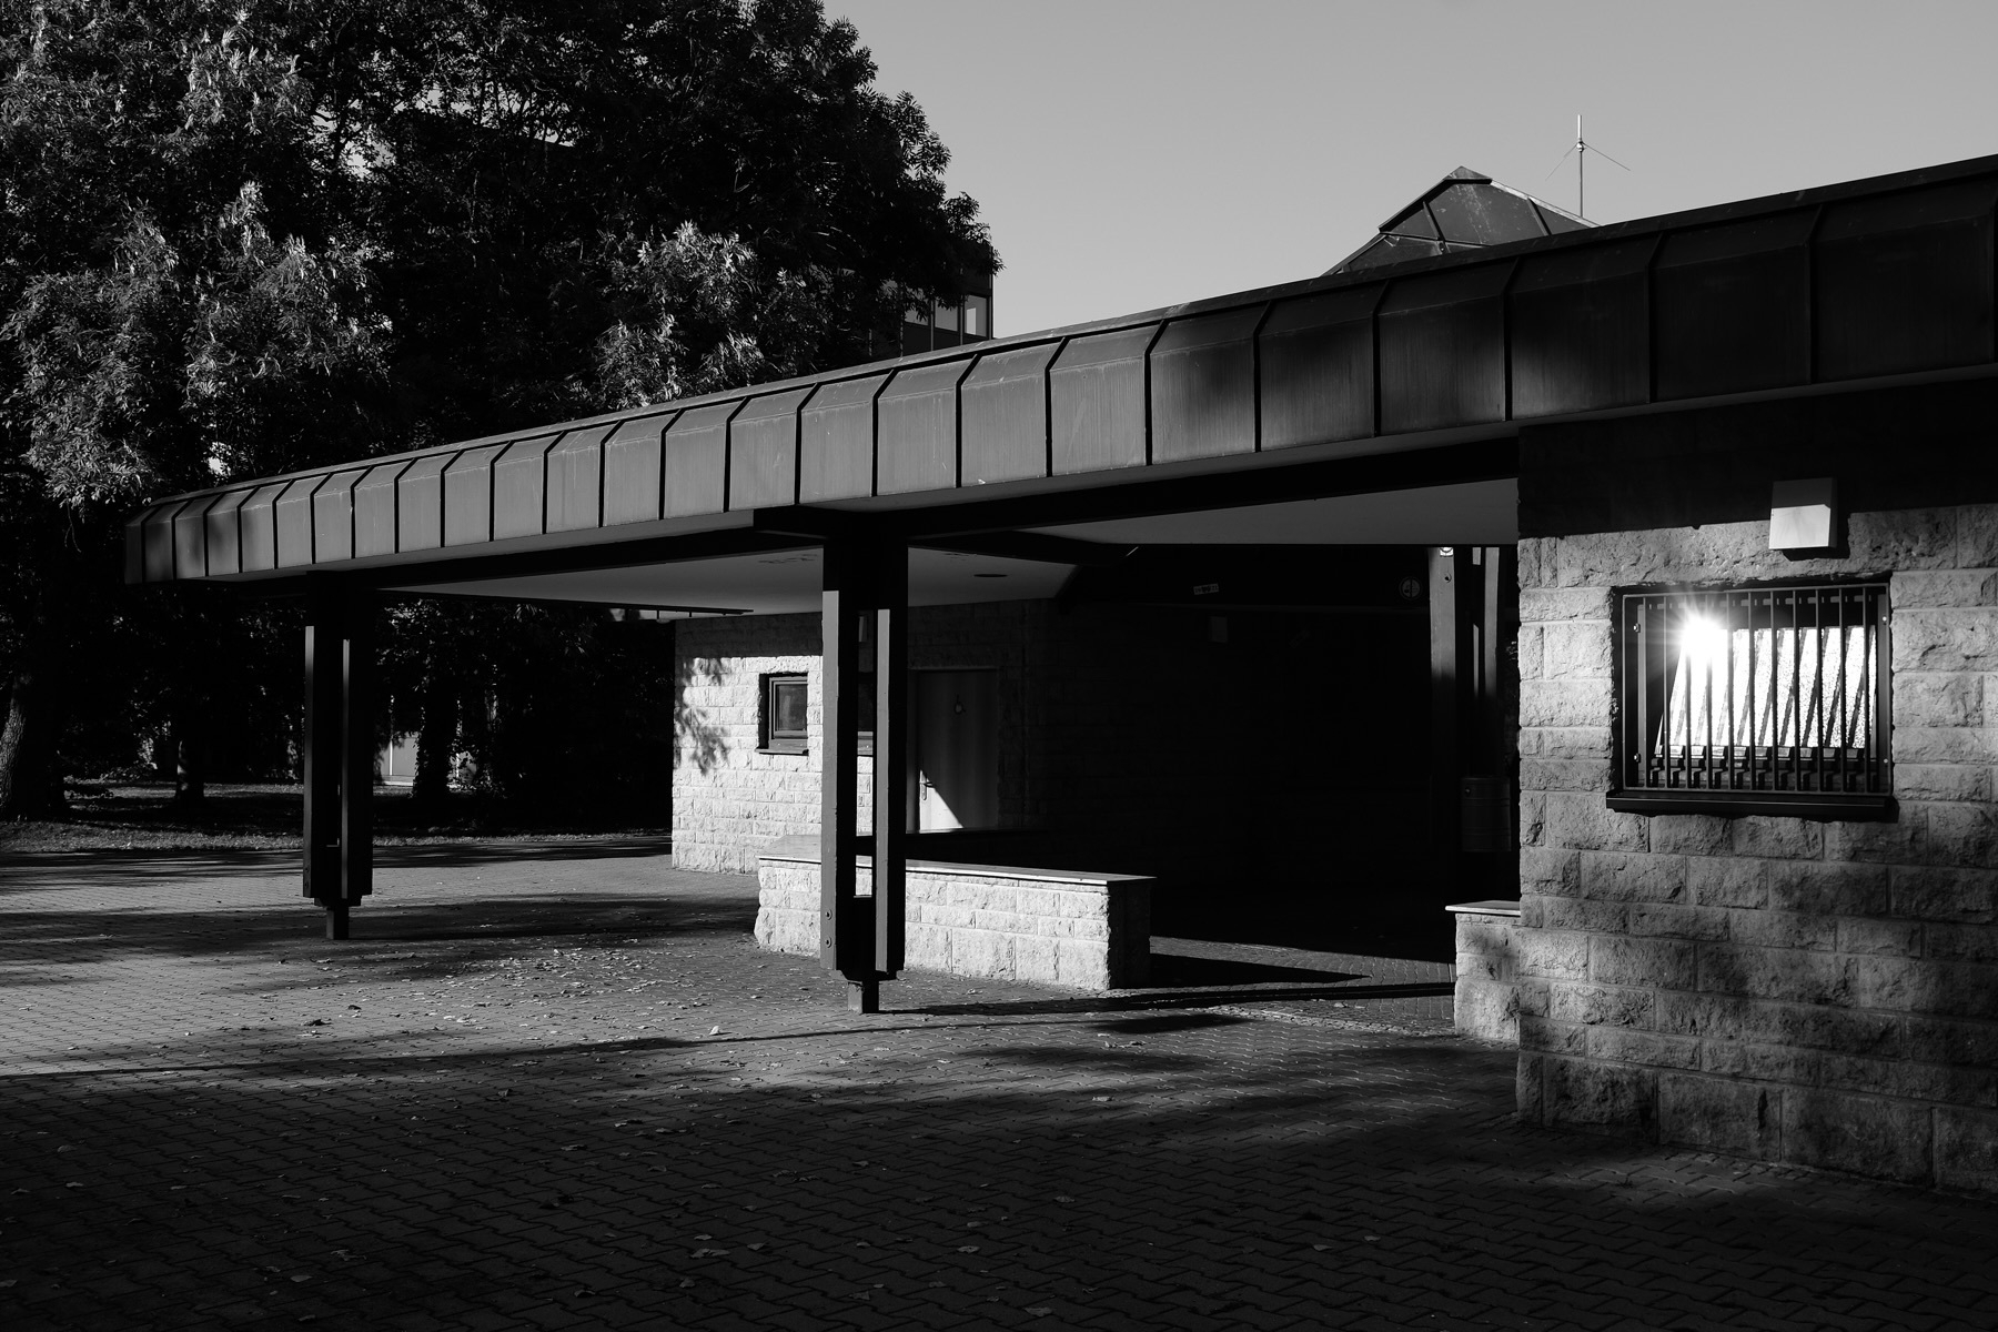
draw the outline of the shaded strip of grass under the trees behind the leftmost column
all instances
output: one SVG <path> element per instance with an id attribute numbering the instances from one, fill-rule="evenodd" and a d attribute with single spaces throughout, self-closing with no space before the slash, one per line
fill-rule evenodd
<path id="1" fill-rule="evenodd" d="M 296 783 L 216 783 L 198 807 L 176 805 L 172 783 L 72 783 L 66 819 L 0 823 L 0 853 L 284 851 L 300 845 L 304 813 Z M 444 809 L 418 809 L 396 787 L 376 787 L 374 823 L 380 847 L 669 835 L 663 799 L 659 823 L 645 825 L 609 817 L 537 819 L 462 793 Z"/>

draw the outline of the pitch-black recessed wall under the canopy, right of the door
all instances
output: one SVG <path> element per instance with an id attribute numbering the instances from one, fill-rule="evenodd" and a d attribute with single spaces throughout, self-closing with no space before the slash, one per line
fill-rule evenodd
<path id="1" fill-rule="evenodd" d="M 1091 605 L 1047 659 L 1039 827 L 1157 875 L 1161 933 L 1311 945 L 1443 897 L 1419 611 Z"/>

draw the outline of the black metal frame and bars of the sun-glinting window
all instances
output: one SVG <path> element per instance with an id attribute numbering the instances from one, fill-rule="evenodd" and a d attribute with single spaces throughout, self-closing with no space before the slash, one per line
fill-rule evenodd
<path id="1" fill-rule="evenodd" d="M 1660 647 L 1658 657 L 1650 659 L 1646 643 L 1656 643 L 1658 639 L 1644 639 L 1648 625 L 1664 621 L 1666 615 L 1682 615 L 1686 613 L 1686 607 L 1700 607 L 1708 611 L 1716 605 L 1720 607 L 1730 643 L 1726 731 L 1732 737 L 1738 731 L 1732 711 L 1732 631 L 1736 629 L 1736 613 L 1742 615 L 1740 627 L 1748 629 L 1762 627 L 1756 623 L 1756 617 L 1766 615 L 1770 621 L 1768 629 L 1772 631 L 1772 643 L 1780 643 L 1780 639 L 1774 639 L 1776 631 L 1788 631 L 1794 635 L 1800 629 L 1816 627 L 1818 619 L 1824 617 L 1826 603 L 1832 601 L 1826 597 L 1830 591 L 1840 593 L 1836 597 L 1840 613 L 1838 623 L 1842 627 L 1870 627 L 1874 639 L 1870 653 L 1866 655 L 1872 671 L 1872 717 L 1868 745 L 1808 747 L 1796 741 L 1780 745 L 1780 735 L 1776 735 L 1768 745 L 1756 745 L 1750 737 L 1746 745 L 1736 745 L 1730 739 L 1724 747 L 1718 741 L 1694 747 L 1688 737 L 1674 769 L 1674 761 L 1670 757 L 1670 737 L 1666 737 L 1666 757 L 1662 765 L 1652 757 L 1658 747 L 1656 727 L 1670 725 L 1668 681 L 1678 675 L 1682 649 L 1676 645 Z M 1852 605 L 1854 597 L 1858 599 L 1862 611 L 1862 619 L 1856 623 L 1844 619 L 1846 607 Z M 1788 815 L 1840 821 L 1894 821 L 1898 817 L 1898 807 L 1892 795 L 1892 601 L 1890 583 L 1884 575 L 1726 583 L 1718 587 L 1692 587 L 1684 583 L 1616 587 L 1610 589 L 1610 605 L 1616 621 L 1610 635 L 1614 647 L 1610 681 L 1614 689 L 1614 725 L 1610 743 L 1614 753 L 1612 787 L 1604 797 L 1608 809 L 1646 815 Z M 1778 607 L 1782 605 L 1788 605 L 1790 611 L 1788 625 L 1780 623 L 1782 611 Z M 1806 605 L 1812 605 L 1814 613 L 1810 625 L 1802 623 Z M 1670 633 L 1670 629 L 1664 633 Z M 1780 649 L 1776 661 L 1780 661 Z M 1790 653 L 1790 663 L 1788 671 L 1770 671 L 1770 697 L 1780 707 L 1784 695 L 1780 693 L 1782 679 L 1778 677 L 1788 677 L 1788 697 L 1792 701 L 1792 715 L 1796 715 L 1804 713 L 1804 669 L 1794 649 Z M 1818 669 L 1822 671 L 1822 665 Z M 1756 687 L 1744 697 L 1748 697 L 1750 705 L 1758 703 L 1760 689 Z M 1814 679 L 1814 697 L 1810 703 L 1812 709 L 1822 713 L 1822 675 Z M 1712 709 L 1710 703 L 1708 709 Z M 1648 721 L 1652 713 L 1658 715 L 1658 721 Z M 1808 717 L 1808 713 L 1804 715 Z M 1712 723 L 1708 723 L 1708 727 L 1712 727 Z M 1638 729 L 1644 729 L 1646 733 L 1638 735 Z M 1724 759 L 1716 763 L 1718 751 L 1722 749 Z M 1736 749 L 1746 753 L 1736 753 Z M 1834 751 L 1842 753 L 1842 763 L 1838 767 L 1840 787 L 1824 789 L 1824 781 L 1828 777 L 1826 757 Z M 1694 759 L 1694 755 L 1698 755 L 1698 759 Z M 1858 765 L 1856 773 L 1846 767 L 1850 763 Z M 1664 777 L 1662 783 L 1658 781 L 1660 773 Z M 1728 785 L 1716 785 L 1718 779 L 1726 779 Z M 1788 785 L 1784 779 L 1788 779 Z M 1854 791 L 1850 789 L 1852 785 L 1862 785 L 1864 789 Z"/>

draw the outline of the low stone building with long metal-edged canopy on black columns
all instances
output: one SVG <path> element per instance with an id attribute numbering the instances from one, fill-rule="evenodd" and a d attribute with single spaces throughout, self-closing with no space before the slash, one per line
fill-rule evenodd
<path id="1" fill-rule="evenodd" d="M 1524 1118 L 1994 1190 L 1994 206 L 1984 158 L 1538 216 L 174 497 L 128 577 L 312 597 L 336 933 L 370 889 L 370 599 L 649 607 L 687 617 L 675 841 L 811 829 L 765 865 L 861 1004 L 937 939 L 985 965 L 1029 901 L 1015 957 L 1059 979 L 1093 937 L 1049 923 L 1089 919 L 1115 975 L 1135 891 L 1081 855 L 1277 923 L 1311 875 L 1349 885 L 1327 919 L 1516 901 L 1461 1010 L 1518 1042 Z M 909 919 L 953 893 L 985 905 Z"/>

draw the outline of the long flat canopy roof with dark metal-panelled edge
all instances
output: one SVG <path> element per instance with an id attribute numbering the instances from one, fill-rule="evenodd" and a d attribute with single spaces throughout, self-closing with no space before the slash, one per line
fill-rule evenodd
<path id="1" fill-rule="evenodd" d="M 1522 425 L 1990 373 L 1994 206 L 1978 158 L 240 481 L 134 515 L 126 579 L 671 605 L 547 579 L 847 531 L 1061 565 L 1229 527 L 1167 515 L 1465 485 L 1495 531 Z M 1279 539 L 1437 541 L 1417 517 L 1289 511 Z M 917 577 L 975 573 L 1023 575 Z M 725 581 L 681 605 L 751 609 Z"/>

